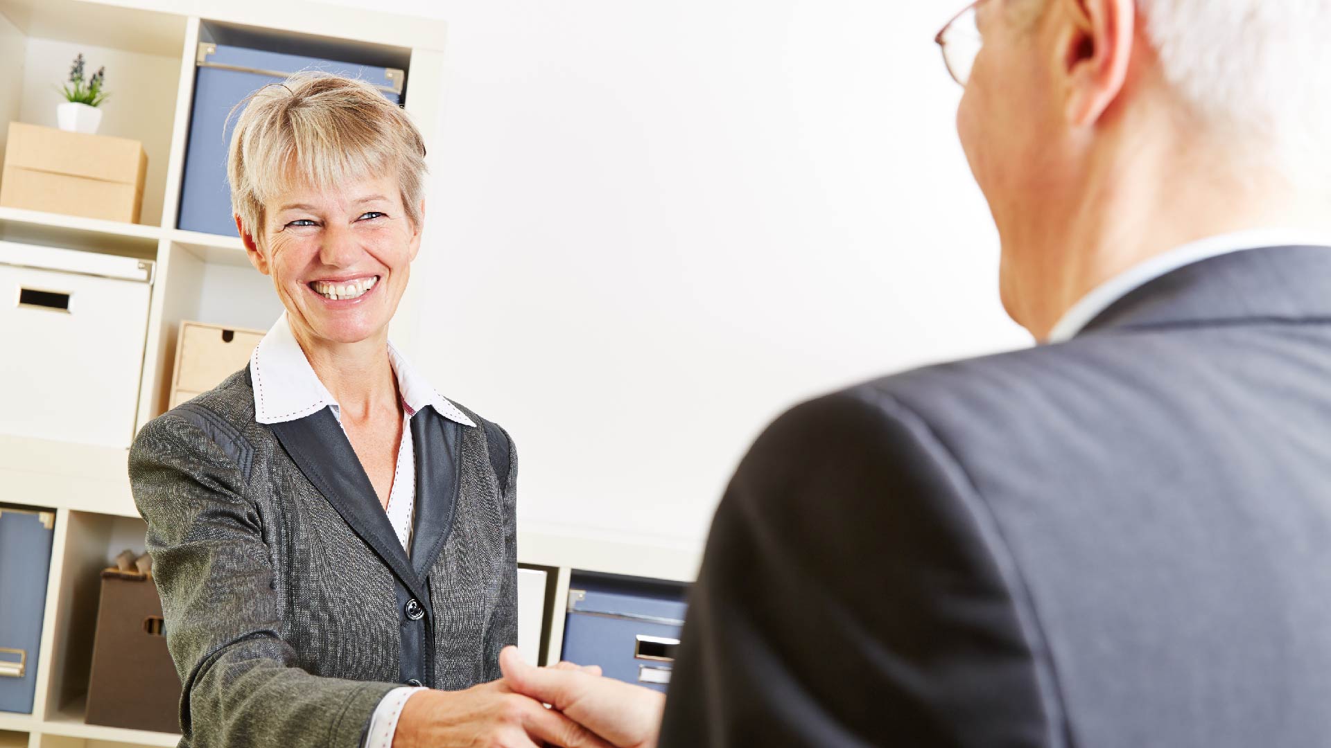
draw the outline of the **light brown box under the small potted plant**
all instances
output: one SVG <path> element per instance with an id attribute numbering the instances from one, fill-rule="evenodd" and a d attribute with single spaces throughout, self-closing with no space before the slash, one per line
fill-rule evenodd
<path id="1" fill-rule="evenodd" d="M 9 122 L 0 206 L 137 224 L 146 173 L 137 140 Z"/>

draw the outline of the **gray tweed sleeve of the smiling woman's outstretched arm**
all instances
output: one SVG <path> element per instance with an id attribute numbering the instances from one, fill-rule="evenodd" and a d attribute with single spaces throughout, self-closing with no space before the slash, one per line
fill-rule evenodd
<path id="1" fill-rule="evenodd" d="M 134 439 L 129 479 L 148 523 L 189 744 L 361 745 L 375 705 L 397 684 L 318 677 L 297 667 L 280 636 L 264 518 L 236 462 L 168 413 Z"/>

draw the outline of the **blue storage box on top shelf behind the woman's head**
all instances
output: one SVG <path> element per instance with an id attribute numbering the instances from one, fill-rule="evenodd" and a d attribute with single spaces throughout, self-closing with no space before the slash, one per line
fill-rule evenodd
<path id="1" fill-rule="evenodd" d="M 180 216 L 176 226 L 190 232 L 240 236 L 232 218 L 232 193 L 226 185 L 226 148 L 236 117 L 232 108 L 270 83 L 282 83 L 301 71 L 322 71 L 370 81 L 383 97 L 402 102 L 406 75 L 397 68 L 377 68 L 268 52 L 248 47 L 200 43 L 196 57 L 194 106 L 185 149 L 185 177 L 181 184 Z"/>

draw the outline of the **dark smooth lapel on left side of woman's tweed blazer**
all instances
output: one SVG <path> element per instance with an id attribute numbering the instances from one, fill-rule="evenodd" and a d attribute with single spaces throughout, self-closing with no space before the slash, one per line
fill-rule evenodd
<path id="1" fill-rule="evenodd" d="M 413 421 L 415 421 L 413 418 Z M 398 542 L 389 516 L 379 504 L 370 476 L 365 474 L 361 459 L 355 455 L 351 442 L 329 409 L 321 409 L 313 415 L 269 425 L 277 441 L 291 455 L 301 472 L 323 494 L 323 498 L 346 520 L 351 530 L 367 544 L 393 571 L 402 584 L 421 599 L 423 594 L 421 575 L 411 568 L 402 543 Z M 415 431 L 411 434 L 415 437 Z M 419 449 L 419 447 L 418 447 Z M 417 465 L 421 454 L 417 453 Z M 417 470 L 419 476 L 419 467 Z M 418 492 L 419 492 L 418 479 Z M 418 508 L 419 512 L 419 508 Z"/>

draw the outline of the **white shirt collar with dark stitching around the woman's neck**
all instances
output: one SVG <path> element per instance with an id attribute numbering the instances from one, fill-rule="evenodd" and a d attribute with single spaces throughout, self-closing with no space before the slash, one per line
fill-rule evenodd
<path id="1" fill-rule="evenodd" d="M 389 341 L 389 362 L 398 379 L 402 406 L 411 417 L 425 406 L 433 406 L 435 413 L 457 421 L 463 426 L 475 426 L 455 405 L 441 395 L 411 366 L 406 357 Z M 301 343 L 291 333 L 286 311 L 277 318 L 268 334 L 254 346 L 250 354 L 250 378 L 254 381 L 254 419 L 260 423 L 280 423 L 305 418 L 323 407 L 331 407 L 333 415 L 342 421 L 341 407 L 323 382 L 310 366 Z"/>

